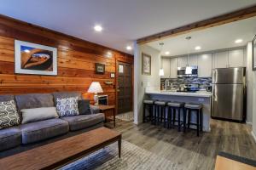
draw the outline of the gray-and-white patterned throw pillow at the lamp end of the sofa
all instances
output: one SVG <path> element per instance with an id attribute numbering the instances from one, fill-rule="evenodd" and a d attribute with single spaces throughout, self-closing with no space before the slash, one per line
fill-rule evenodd
<path id="1" fill-rule="evenodd" d="M 57 98 L 56 109 L 59 116 L 79 115 L 78 97 L 76 98 Z"/>

